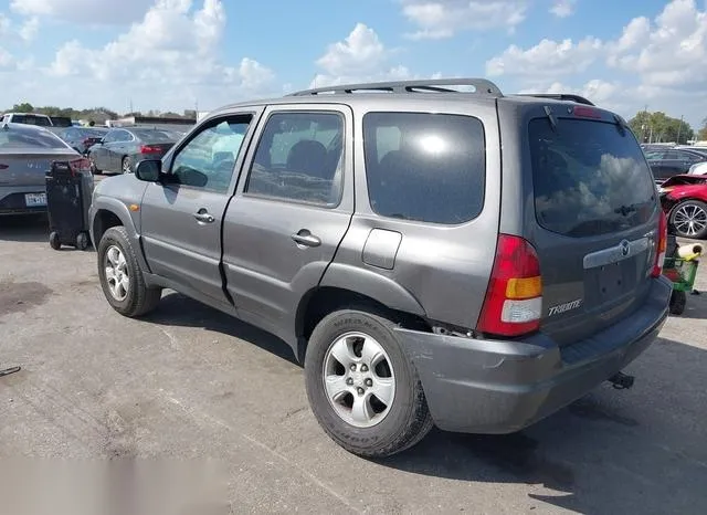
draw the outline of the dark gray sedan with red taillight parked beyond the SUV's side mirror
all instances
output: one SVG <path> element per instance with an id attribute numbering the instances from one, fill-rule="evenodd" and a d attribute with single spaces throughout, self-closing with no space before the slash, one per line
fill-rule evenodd
<path id="1" fill-rule="evenodd" d="M 88 158 L 94 174 L 131 174 L 141 160 L 161 158 L 180 137 L 163 128 L 114 128 L 88 149 Z"/>

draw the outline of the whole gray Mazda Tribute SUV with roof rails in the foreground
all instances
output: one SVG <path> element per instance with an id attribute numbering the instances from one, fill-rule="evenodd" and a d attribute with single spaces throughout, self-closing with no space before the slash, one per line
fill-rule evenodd
<path id="1" fill-rule="evenodd" d="M 666 221 L 626 123 L 484 80 L 220 108 L 98 183 L 91 218 L 118 313 L 171 288 L 277 335 L 320 425 L 366 456 L 631 386 L 668 312 Z"/>

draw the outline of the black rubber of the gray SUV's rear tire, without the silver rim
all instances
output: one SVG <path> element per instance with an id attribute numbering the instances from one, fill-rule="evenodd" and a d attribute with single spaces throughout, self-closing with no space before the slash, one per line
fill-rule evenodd
<path id="1" fill-rule="evenodd" d="M 416 444 L 434 425 L 412 362 L 392 332 L 393 323 L 362 311 L 344 309 L 326 316 L 315 328 L 305 356 L 307 397 L 319 425 L 341 448 L 366 458 L 384 458 Z M 388 354 L 394 370 L 395 392 L 387 416 L 370 428 L 346 422 L 331 407 L 324 386 L 324 362 L 329 347 L 350 332 L 371 336 Z"/>

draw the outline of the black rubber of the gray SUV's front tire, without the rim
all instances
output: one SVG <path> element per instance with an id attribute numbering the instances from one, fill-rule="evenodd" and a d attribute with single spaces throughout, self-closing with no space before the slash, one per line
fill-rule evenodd
<path id="1" fill-rule="evenodd" d="M 104 263 L 106 261 L 106 253 L 113 245 L 117 246 L 125 256 L 128 271 L 129 286 L 124 299 L 117 299 L 113 296 L 106 278 Z M 136 250 L 130 244 L 128 233 L 124 227 L 113 227 L 105 232 L 98 244 L 97 254 L 101 287 L 103 288 L 106 301 L 108 301 L 108 304 L 110 304 L 116 312 L 120 315 L 135 318 L 146 315 L 157 307 L 162 295 L 162 290 L 148 287 L 145 284 L 145 277 L 143 276 L 143 270 L 137 260 Z"/>

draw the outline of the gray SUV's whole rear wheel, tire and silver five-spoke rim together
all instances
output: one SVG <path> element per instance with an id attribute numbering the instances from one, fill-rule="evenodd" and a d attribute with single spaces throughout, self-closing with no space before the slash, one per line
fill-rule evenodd
<path id="1" fill-rule="evenodd" d="M 422 440 L 433 421 L 393 322 L 344 309 L 315 328 L 305 357 L 307 397 L 327 434 L 347 451 L 389 456 Z"/>

